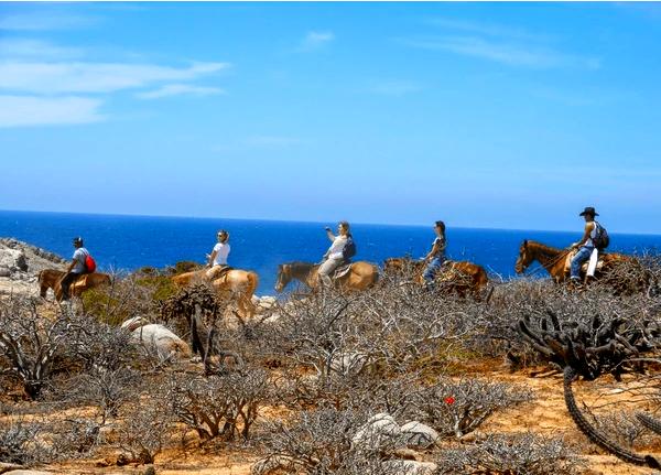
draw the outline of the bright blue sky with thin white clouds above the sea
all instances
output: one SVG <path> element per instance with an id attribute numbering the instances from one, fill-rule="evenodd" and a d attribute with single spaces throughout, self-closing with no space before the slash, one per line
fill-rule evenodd
<path id="1" fill-rule="evenodd" d="M 0 3 L 0 208 L 661 233 L 654 3 Z"/>

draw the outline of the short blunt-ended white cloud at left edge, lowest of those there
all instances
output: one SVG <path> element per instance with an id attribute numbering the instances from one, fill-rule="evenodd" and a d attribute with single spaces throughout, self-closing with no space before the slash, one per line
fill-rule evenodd
<path id="1" fill-rule="evenodd" d="M 0 96 L 0 128 L 104 120 L 101 100 L 85 97 Z"/>

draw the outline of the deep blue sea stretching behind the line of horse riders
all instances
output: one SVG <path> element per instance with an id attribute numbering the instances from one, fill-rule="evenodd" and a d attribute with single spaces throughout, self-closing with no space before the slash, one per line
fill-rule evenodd
<path id="1" fill-rule="evenodd" d="M 216 244 L 216 231 L 230 233 L 229 263 L 259 273 L 259 294 L 273 294 L 278 265 L 292 260 L 318 261 L 329 246 L 324 226 L 334 223 L 295 223 L 220 218 L 86 215 L 0 210 L 0 237 L 14 237 L 71 258 L 72 238 L 82 236 L 100 269 L 162 268 L 181 260 L 204 262 Z M 356 260 L 382 263 L 383 259 L 424 256 L 434 239 L 432 226 L 353 224 Z M 447 255 L 484 266 L 492 277 L 514 276 L 519 245 L 525 238 L 566 247 L 576 233 L 448 227 Z M 613 251 L 661 250 L 661 236 L 610 234 Z M 543 272 L 542 272 L 543 274 Z"/>

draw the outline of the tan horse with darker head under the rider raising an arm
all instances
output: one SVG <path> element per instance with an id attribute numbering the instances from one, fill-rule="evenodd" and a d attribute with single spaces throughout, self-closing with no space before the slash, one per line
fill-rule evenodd
<path id="1" fill-rule="evenodd" d="M 296 279 L 310 289 L 318 287 L 317 271 L 318 263 L 312 262 L 288 262 L 278 266 L 278 282 L 275 290 L 282 292 L 284 288 Z M 362 260 L 351 262 L 351 268 L 338 279 L 335 279 L 337 287 L 344 290 L 365 290 L 372 287 L 379 280 L 379 268 L 373 263 Z"/>

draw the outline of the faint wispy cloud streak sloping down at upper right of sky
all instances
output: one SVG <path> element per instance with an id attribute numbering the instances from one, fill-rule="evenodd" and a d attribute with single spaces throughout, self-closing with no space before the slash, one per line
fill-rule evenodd
<path id="1" fill-rule="evenodd" d="M 401 39 L 400 42 L 412 47 L 445 51 L 510 66 L 532 68 L 581 67 L 587 69 L 597 69 L 600 66 L 600 62 L 596 57 L 565 54 L 544 46 L 499 42 L 478 36 L 426 36 Z"/>

